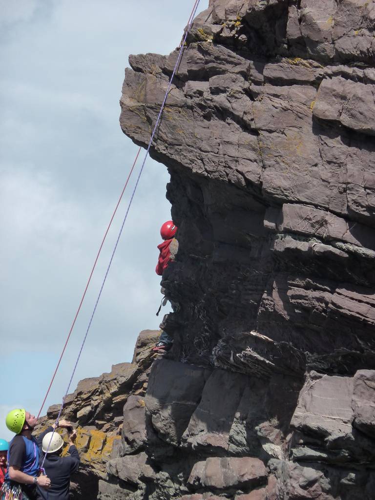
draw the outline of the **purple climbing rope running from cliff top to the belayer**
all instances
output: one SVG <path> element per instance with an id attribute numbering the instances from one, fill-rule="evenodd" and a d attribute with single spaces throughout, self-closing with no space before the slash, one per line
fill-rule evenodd
<path id="1" fill-rule="evenodd" d="M 111 255 L 110 260 L 109 260 L 108 267 L 107 267 L 107 269 L 106 269 L 106 271 L 105 271 L 105 274 L 104 274 L 104 279 L 103 279 L 103 281 L 102 281 L 102 283 L 101 283 L 101 286 L 100 286 L 99 294 L 98 294 L 98 296 L 97 296 L 97 298 L 96 298 L 96 302 L 95 302 L 94 308 L 93 308 L 93 310 L 92 310 L 90 320 L 89 320 L 88 325 L 87 325 L 86 333 L 85 333 L 85 335 L 84 335 L 84 337 L 83 337 L 83 341 L 82 341 L 82 344 L 81 344 L 81 346 L 80 346 L 79 353 L 78 353 L 77 359 L 76 359 L 76 361 L 75 361 L 73 371 L 72 371 L 72 373 L 71 373 L 71 377 L 70 377 L 70 380 L 69 380 L 69 384 L 68 384 L 68 386 L 67 386 L 67 389 L 66 389 L 65 395 L 64 395 L 64 397 L 62 398 L 61 407 L 60 407 L 60 410 L 59 410 L 59 412 L 58 412 L 58 415 L 57 415 L 56 421 L 54 422 L 54 425 L 53 425 L 53 432 L 56 430 L 56 427 L 57 427 L 57 424 L 58 424 L 58 419 L 59 419 L 59 418 L 60 418 L 60 416 L 61 416 L 61 412 L 62 412 L 62 408 L 63 408 L 63 406 L 64 406 L 65 398 L 66 398 L 66 396 L 67 396 L 67 394 L 68 394 L 68 392 L 69 392 L 69 388 L 70 388 L 71 382 L 72 382 L 72 380 L 73 380 L 73 376 L 74 376 L 74 373 L 75 373 L 75 369 L 76 369 L 76 367 L 77 367 L 77 364 L 78 364 L 78 361 L 79 361 L 80 355 L 81 355 L 81 353 L 82 353 L 83 346 L 84 346 L 84 343 L 85 343 L 86 338 L 87 338 L 87 335 L 88 335 L 88 330 L 90 329 L 91 322 L 92 322 L 93 316 L 94 316 L 94 314 L 95 314 L 96 307 L 97 307 L 97 304 L 98 304 L 98 302 L 99 302 L 100 295 L 101 295 L 101 292 L 102 292 L 102 290 L 103 290 L 104 283 L 105 283 L 105 281 L 106 281 L 106 278 L 107 278 L 107 275 L 108 275 L 108 272 L 109 272 L 109 269 L 110 269 L 110 266 L 111 266 L 111 263 L 112 263 L 112 260 L 113 260 L 113 257 L 114 257 L 114 253 L 115 253 L 115 251 L 116 251 L 116 248 L 117 248 L 117 245 L 118 245 L 118 241 L 119 241 L 120 236 L 121 236 L 121 233 L 122 233 L 123 226 L 124 226 L 125 221 L 126 221 L 126 218 L 127 218 L 127 214 L 129 213 L 130 206 L 131 206 L 131 203 L 132 203 L 132 201 L 133 201 L 133 197 L 134 197 L 134 194 L 135 194 L 136 188 L 137 188 L 137 186 L 138 186 L 138 182 L 139 182 L 140 176 L 141 176 L 141 174 L 142 174 L 144 164 L 145 164 L 146 159 L 147 159 L 148 151 L 149 151 L 149 149 L 150 149 L 150 147 L 151 147 L 151 143 L 152 143 L 153 137 L 154 137 L 154 135 L 155 135 L 155 132 L 156 132 L 157 126 L 158 126 L 158 124 L 159 124 L 159 121 L 160 121 L 160 118 L 161 118 L 161 113 L 162 113 L 162 111 L 163 111 L 163 109 L 164 109 L 166 99 L 168 98 L 168 93 L 169 93 L 169 90 L 170 90 L 170 87 L 171 87 L 171 84 L 172 84 L 172 80 L 173 80 L 174 75 L 175 75 L 175 73 L 176 73 L 176 71 L 177 71 L 177 67 L 178 67 L 178 65 L 179 65 L 179 63 L 180 63 L 180 60 L 181 60 L 181 57 L 182 57 L 182 53 L 183 53 L 183 49 L 184 49 L 184 46 L 185 46 L 185 41 L 186 41 L 186 38 L 187 38 L 187 34 L 188 34 L 188 32 L 189 32 L 189 30 L 190 30 L 190 28 L 191 28 L 192 21 L 193 21 L 193 19 L 194 19 L 194 16 L 195 16 L 196 10 L 197 10 L 198 5 L 199 5 L 199 1 L 200 1 L 200 0 L 195 0 L 194 7 L 193 7 L 193 9 L 192 9 L 192 11 L 191 11 L 191 14 L 190 14 L 190 17 L 189 17 L 189 20 L 188 20 L 188 24 L 187 24 L 187 28 L 186 28 L 186 31 L 185 31 L 185 35 L 184 35 L 184 37 L 183 37 L 183 40 L 182 40 L 182 43 L 181 43 L 181 47 L 180 47 L 180 50 L 179 50 L 179 53 L 178 53 L 178 57 L 177 57 L 176 63 L 174 64 L 173 72 L 172 72 L 172 75 L 171 75 L 171 77 L 170 77 L 170 79 L 169 79 L 168 87 L 167 87 L 167 89 L 166 89 L 166 92 L 165 92 L 165 95 L 164 95 L 164 99 L 163 99 L 162 104 L 161 104 L 161 106 L 160 106 L 159 114 L 157 115 L 156 122 L 155 122 L 155 126 L 153 127 L 152 134 L 151 134 L 151 138 L 150 138 L 150 140 L 149 140 L 149 142 L 148 142 L 147 150 L 146 150 L 146 153 L 145 153 L 145 155 L 144 155 L 144 158 L 143 158 L 143 161 L 142 161 L 142 165 L 141 165 L 141 167 L 140 167 L 139 174 L 138 174 L 138 177 L 137 177 L 137 179 L 136 179 L 136 182 L 135 182 L 135 186 L 134 186 L 133 192 L 132 192 L 132 194 L 131 194 L 131 197 L 130 197 L 129 203 L 128 203 L 128 205 L 127 205 L 126 213 L 125 213 L 125 216 L 124 216 L 124 218 L 123 218 L 123 220 L 122 220 L 122 224 L 121 224 L 120 230 L 119 230 L 119 232 L 118 232 L 117 240 L 116 240 L 116 243 L 115 243 L 115 245 L 114 245 L 114 248 L 113 248 L 113 251 L 112 251 L 112 255 Z M 47 453 L 48 453 L 48 450 L 49 450 L 49 446 L 50 446 L 51 441 L 52 441 L 52 437 L 53 437 L 53 434 L 51 434 L 51 437 L 50 437 L 50 439 L 49 439 L 48 447 L 47 447 L 47 450 L 46 450 L 46 451 L 45 451 L 45 453 L 44 453 L 44 457 L 43 457 L 43 461 L 41 462 L 40 469 L 41 469 L 41 468 L 43 467 L 43 465 L 44 465 L 45 457 L 47 456 Z"/>

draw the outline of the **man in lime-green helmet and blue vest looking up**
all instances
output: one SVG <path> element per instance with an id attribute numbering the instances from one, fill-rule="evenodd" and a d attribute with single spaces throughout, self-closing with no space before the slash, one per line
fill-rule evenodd
<path id="1" fill-rule="evenodd" d="M 45 489 L 50 486 L 49 477 L 39 475 L 39 449 L 36 439 L 31 435 L 36 418 L 25 409 L 17 408 L 9 411 L 5 422 L 7 428 L 16 435 L 9 444 L 8 469 L 2 494 L 13 490 L 14 498 L 22 492 L 23 500 L 34 500 L 36 485 Z"/>

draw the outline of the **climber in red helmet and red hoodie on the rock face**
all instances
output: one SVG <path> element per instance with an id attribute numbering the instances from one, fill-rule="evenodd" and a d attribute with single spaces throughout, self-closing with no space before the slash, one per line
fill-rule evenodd
<path id="1" fill-rule="evenodd" d="M 159 250 L 159 257 L 157 259 L 157 264 L 156 264 L 156 274 L 159 276 L 162 276 L 162 273 L 164 269 L 168 266 L 168 263 L 170 261 L 173 261 L 175 259 L 177 250 L 178 250 L 178 241 L 174 237 L 175 233 L 177 232 L 177 226 L 174 224 L 172 220 L 167 220 L 164 222 L 160 228 L 160 235 L 163 238 L 163 242 L 157 245 L 157 248 Z M 161 288 L 161 293 L 164 295 L 165 290 L 164 288 Z M 169 302 L 172 306 L 172 308 L 175 308 L 174 303 L 169 299 Z M 163 305 L 166 303 L 166 297 L 162 301 Z M 161 306 L 160 306 L 161 307 Z M 162 331 L 161 335 L 159 337 L 159 341 L 156 343 L 156 345 L 152 348 L 154 352 L 165 352 L 170 349 L 172 346 L 172 339 L 170 336 L 165 332 Z"/>

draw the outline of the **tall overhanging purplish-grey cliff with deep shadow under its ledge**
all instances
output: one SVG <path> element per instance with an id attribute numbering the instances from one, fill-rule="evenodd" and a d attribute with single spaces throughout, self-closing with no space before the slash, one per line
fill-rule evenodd
<path id="1" fill-rule="evenodd" d="M 194 20 L 150 149 L 178 225 L 174 345 L 125 405 L 102 500 L 373 498 L 374 22 L 357 0 Z M 137 144 L 176 57 L 129 58 Z"/>

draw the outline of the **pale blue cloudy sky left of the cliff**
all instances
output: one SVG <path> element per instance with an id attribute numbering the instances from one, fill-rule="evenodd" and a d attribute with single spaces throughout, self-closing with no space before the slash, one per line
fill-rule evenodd
<path id="1" fill-rule="evenodd" d="M 128 55 L 173 50 L 192 4 L 0 0 L 0 438 L 13 435 L 7 411 L 39 410 L 136 154 L 118 124 Z M 198 11 L 207 4 L 200 0 Z M 130 361 L 139 331 L 158 328 L 154 268 L 159 228 L 170 218 L 168 179 L 148 158 L 69 392 Z M 66 391 L 134 182 L 42 414 Z"/>

